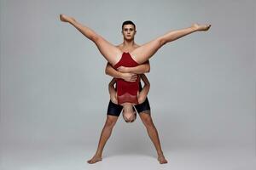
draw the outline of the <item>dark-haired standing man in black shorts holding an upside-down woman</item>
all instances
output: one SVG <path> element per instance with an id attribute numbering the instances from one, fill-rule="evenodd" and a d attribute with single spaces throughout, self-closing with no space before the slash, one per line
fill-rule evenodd
<path id="1" fill-rule="evenodd" d="M 134 42 L 134 37 L 136 35 L 136 32 L 137 31 L 136 31 L 135 24 L 130 20 L 125 21 L 122 25 L 122 34 L 124 37 L 124 42 L 117 45 L 116 47 L 119 48 L 122 52 L 131 52 L 135 48 L 138 48 L 139 45 L 137 45 L 137 43 Z M 118 71 L 114 70 L 113 66 L 108 63 L 105 71 L 106 71 L 106 74 L 108 74 L 111 77 L 122 78 L 127 82 L 134 82 L 137 78 L 137 74 L 143 74 L 143 73 L 149 72 L 149 70 L 150 70 L 150 65 L 149 65 L 149 61 L 147 61 L 143 65 L 138 65 L 136 67 L 121 66 L 118 68 Z M 140 84 L 140 87 L 141 87 L 141 84 Z M 154 147 L 157 151 L 158 161 L 160 161 L 160 164 L 167 163 L 166 158 L 160 146 L 160 139 L 159 139 L 157 129 L 154 126 L 154 122 L 152 121 L 148 98 L 143 102 L 143 104 L 137 105 L 136 109 L 141 120 L 143 121 L 144 126 L 147 129 L 148 136 L 152 140 Z M 115 105 L 111 100 L 109 100 L 107 120 L 102 129 L 102 134 L 98 143 L 96 154 L 89 161 L 87 161 L 88 163 L 96 163 L 96 161 L 102 161 L 102 150 L 112 133 L 113 127 L 117 122 L 121 111 L 122 111 L 121 105 Z"/>

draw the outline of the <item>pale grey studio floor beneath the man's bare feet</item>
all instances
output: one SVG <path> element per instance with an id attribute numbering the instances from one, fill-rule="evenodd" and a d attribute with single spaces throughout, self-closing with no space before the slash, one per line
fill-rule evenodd
<path id="1" fill-rule="evenodd" d="M 175 170 L 255 170 L 252 147 L 172 147 L 166 149 L 168 164 L 160 165 L 151 151 L 105 149 L 103 160 L 90 165 L 95 146 L 9 145 L 1 150 L 1 170 L 66 169 L 175 169 Z"/>

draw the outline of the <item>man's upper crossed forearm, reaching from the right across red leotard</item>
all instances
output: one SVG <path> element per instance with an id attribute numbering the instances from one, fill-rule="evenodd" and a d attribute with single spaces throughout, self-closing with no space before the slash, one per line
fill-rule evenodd
<path id="1" fill-rule="evenodd" d="M 150 71 L 150 64 L 149 61 L 146 61 L 142 65 L 137 65 L 134 67 L 119 66 L 117 70 L 125 73 L 143 74 Z"/>

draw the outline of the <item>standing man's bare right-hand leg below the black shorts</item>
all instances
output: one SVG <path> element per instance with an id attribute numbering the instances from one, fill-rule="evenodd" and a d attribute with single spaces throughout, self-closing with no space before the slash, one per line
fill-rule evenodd
<path id="1" fill-rule="evenodd" d="M 167 163 L 167 160 L 164 156 L 163 150 L 161 149 L 158 132 L 157 132 L 156 127 L 154 127 L 154 123 L 150 116 L 150 112 L 140 113 L 139 116 L 141 117 L 143 124 L 147 128 L 148 136 L 152 140 L 154 147 L 157 151 L 158 161 L 160 161 L 160 164 Z"/>

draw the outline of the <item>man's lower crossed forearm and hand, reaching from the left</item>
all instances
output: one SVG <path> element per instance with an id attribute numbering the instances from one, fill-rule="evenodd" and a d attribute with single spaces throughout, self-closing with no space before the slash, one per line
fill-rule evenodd
<path id="1" fill-rule="evenodd" d="M 120 72 L 116 71 L 112 65 L 109 63 L 106 66 L 105 73 L 109 75 L 110 77 L 115 77 L 115 78 L 122 78 L 126 82 L 135 82 L 137 79 L 137 74 L 134 73 L 125 73 L 125 72 Z"/>

